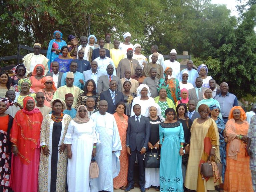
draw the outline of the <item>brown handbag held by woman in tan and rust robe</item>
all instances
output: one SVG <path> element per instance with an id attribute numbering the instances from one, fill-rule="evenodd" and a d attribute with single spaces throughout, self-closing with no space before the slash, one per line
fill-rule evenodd
<path id="1" fill-rule="evenodd" d="M 213 169 L 212 169 L 212 164 L 210 163 L 211 162 L 211 156 L 212 155 L 209 155 L 206 163 L 202 163 L 201 164 L 201 174 L 204 176 L 204 177 L 213 177 Z M 220 160 L 218 159 L 218 157 L 216 157 L 216 155 L 213 155 L 215 158 L 214 158 L 214 161 L 215 163 L 217 164 L 217 167 L 218 167 L 218 171 L 219 171 L 219 175 L 221 176 L 222 174 L 222 164 L 220 162 Z M 217 160 L 219 160 L 219 162 L 217 162 Z"/>

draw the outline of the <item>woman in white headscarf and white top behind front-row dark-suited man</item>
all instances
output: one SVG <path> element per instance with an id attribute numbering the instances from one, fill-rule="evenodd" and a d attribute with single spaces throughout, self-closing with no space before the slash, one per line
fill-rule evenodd
<path id="1" fill-rule="evenodd" d="M 138 96 L 135 97 L 132 102 L 131 116 L 134 115 L 133 106 L 139 104 L 141 106 L 141 115 L 148 117 L 148 106 L 155 102 L 155 100 L 150 97 L 151 93 L 149 87 L 146 84 L 141 84 L 137 89 L 137 94 Z"/>

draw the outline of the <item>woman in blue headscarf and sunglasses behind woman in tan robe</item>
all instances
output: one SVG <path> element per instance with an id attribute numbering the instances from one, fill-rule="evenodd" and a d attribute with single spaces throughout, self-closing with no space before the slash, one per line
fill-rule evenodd
<path id="1" fill-rule="evenodd" d="M 224 121 L 219 118 L 220 114 L 220 107 L 218 105 L 211 105 L 210 106 L 210 114 L 211 118 L 215 121 L 218 127 L 219 131 L 219 137 L 220 137 L 220 160 L 221 163 L 223 164 L 222 167 L 222 181 L 224 182 L 224 175 L 225 175 L 225 169 L 226 169 L 226 134 L 225 134 L 225 123 Z"/>

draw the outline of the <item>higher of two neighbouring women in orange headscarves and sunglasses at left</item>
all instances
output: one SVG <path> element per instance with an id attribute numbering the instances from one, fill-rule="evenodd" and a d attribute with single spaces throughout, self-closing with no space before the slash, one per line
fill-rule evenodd
<path id="1" fill-rule="evenodd" d="M 35 93 L 37 93 L 39 89 L 44 88 L 44 83 L 42 82 L 43 77 L 44 66 L 42 64 L 37 64 L 32 72 L 32 76 L 29 78 L 31 81 L 31 89 L 33 89 Z"/>

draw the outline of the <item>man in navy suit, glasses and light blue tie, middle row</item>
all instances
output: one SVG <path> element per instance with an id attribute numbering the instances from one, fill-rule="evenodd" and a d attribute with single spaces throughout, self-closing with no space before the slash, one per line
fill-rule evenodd
<path id="1" fill-rule="evenodd" d="M 100 94 L 100 100 L 106 100 L 108 102 L 107 112 L 110 114 L 115 113 L 115 106 L 118 102 L 124 102 L 124 95 L 122 92 L 117 91 L 117 82 L 116 80 L 111 80 L 109 82 L 109 89 L 102 91 Z"/>

